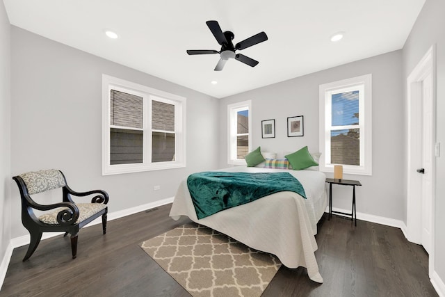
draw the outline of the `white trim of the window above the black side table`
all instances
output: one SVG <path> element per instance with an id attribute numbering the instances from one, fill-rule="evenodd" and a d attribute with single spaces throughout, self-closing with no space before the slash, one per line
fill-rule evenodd
<path id="1" fill-rule="evenodd" d="M 332 83 L 325 83 L 319 88 L 320 102 L 320 170 L 334 172 L 334 164 L 330 163 L 330 127 L 331 127 L 331 94 L 338 90 L 347 91 L 348 88 L 357 89 L 363 85 L 363 97 L 359 100 L 360 135 L 360 166 L 343 165 L 343 172 L 355 175 L 372 175 L 372 74 L 343 79 Z M 343 126 L 339 126 L 341 129 Z M 349 126 L 346 126 L 349 127 Z M 364 154 L 363 154 L 364 152 Z"/>

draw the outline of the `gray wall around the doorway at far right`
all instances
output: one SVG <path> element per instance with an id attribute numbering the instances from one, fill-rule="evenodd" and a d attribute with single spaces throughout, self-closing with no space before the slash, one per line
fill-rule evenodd
<path id="1" fill-rule="evenodd" d="M 435 271 L 445 280 L 445 1 L 427 0 L 403 47 L 403 81 L 406 79 L 431 45 L 437 50 L 437 106 L 436 139 L 442 152 L 436 158 L 435 193 Z M 406 109 L 406 102 L 405 109 Z"/>

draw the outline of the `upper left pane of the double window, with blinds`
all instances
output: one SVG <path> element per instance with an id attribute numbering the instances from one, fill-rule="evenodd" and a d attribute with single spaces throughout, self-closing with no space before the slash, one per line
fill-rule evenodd
<path id="1" fill-rule="evenodd" d="M 111 90 L 110 125 L 142 128 L 143 97 Z"/>

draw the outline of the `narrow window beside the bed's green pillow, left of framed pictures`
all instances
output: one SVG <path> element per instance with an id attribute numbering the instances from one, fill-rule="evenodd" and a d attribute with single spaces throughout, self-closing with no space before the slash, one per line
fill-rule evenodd
<path id="1" fill-rule="evenodd" d="M 228 162 L 234 165 L 245 165 L 244 156 L 250 152 L 252 143 L 252 115 L 250 101 L 238 102 L 227 106 L 228 122 Z"/>

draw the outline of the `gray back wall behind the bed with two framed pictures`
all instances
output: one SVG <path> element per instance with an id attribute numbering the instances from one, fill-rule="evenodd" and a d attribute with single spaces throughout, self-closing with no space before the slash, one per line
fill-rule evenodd
<path id="1" fill-rule="evenodd" d="M 227 167 L 227 104 L 252 99 L 252 150 L 294 152 L 307 145 L 309 152 L 318 152 L 318 86 L 323 83 L 373 75 L 373 175 L 345 175 L 358 179 L 357 211 L 385 218 L 403 220 L 401 207 L 404 172 L 402 52 L 348 63 L 275 83 L 264 88 L 227 97 L 220 102 L 220 166 Z M 305 136 L 287 137 L 287 117 L 304 115 Z M 275 119 L 275 138 L 261 138 L 261 120 Z M 327 173 L 327 176 L 332 173 Z M 336 187 L 333 207 L 350 209 L 349 187 Z"/>

